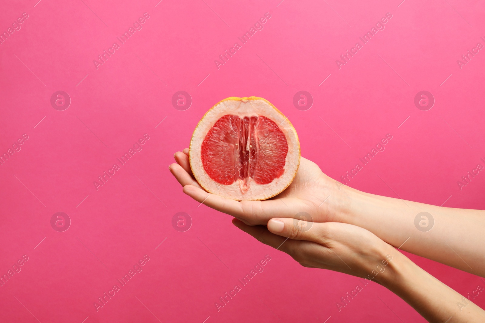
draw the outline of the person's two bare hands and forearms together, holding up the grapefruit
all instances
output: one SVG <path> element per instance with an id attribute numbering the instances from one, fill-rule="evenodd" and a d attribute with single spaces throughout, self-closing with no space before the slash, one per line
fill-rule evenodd
<path id="1" fill-rule="evenodd" d="M 478 242 L 485 227 L 484 211 L 360 192 L 329 178 L 303 157 L 295 179 L 279 196 L 235 201 L 209 194 L 197 184 L 188 153 L 188 149 L 176 153 L 177 164 L 169 166 L 184 193 L 242 220 L 233 223 L 259 241 L 290 254 L 304 266 L 384 285 L 429 322 L 485 322 L 484 310 L 392 247 L 483 276 L 485 245 Z M 300 219 L 302 212 L 311 215 L 307 216 L 311 222 Z M 418 227 L 416 218 L 423 213 L 439 226 Z"/>

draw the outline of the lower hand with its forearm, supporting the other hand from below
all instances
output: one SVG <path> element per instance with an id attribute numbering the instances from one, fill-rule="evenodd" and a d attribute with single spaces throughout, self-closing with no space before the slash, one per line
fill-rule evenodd
<path id="1" fill-rule="evenodd" d="M 339 271 L 387 287 L 429 322 L 485 322 L 483 309 L 360 227 L 289 218 L 273 218 L 267 227 L 248 226 L 237 219 L 232 223 L 305 267 Z"/>

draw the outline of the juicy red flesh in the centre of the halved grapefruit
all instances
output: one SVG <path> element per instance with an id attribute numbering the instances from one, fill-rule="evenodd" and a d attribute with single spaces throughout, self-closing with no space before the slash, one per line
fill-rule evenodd
<path id="1" fill-rule="evenodd" d="M 211 179 L 231 185 L 249 178 L 269 184 L 284 172 L 288 143 L 277 124 L 264 116 L 226 114 L 202 142 L 202 165 Z"/>

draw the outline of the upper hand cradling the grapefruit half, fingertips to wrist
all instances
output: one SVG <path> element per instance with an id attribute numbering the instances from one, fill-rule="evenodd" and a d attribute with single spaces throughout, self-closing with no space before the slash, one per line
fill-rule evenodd
<path id="1" fill-rule="evenodd" d="M 315 222 L 339 222 L 348 204 L 342 189 L 344 185 L 323 174 L 317 164 L 303 157 L 291 185 L 274 198 L 264 201 L 235 201 L 207 193 L 194 179 L 189 150 L 177 152 L 174 157 L 177 164 L 170 165 L 169 169 L 183 186 L 185 194 L 245 224 L 266 224 L 275 215 L 298 218 L 300 212 L 308 213 Z"/>

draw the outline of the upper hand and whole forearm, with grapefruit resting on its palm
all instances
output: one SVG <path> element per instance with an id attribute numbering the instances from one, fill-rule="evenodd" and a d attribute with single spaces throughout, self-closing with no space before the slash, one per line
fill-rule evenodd
<path id="1" fill-rule="evenodd" d="M 197 184 L 188 152 L 184 149 L 176 153 L 178 164 L 169 167 L 184 186 L 184 193 L 245 224 L 265 225 L 276 216 L 300 219 L 300 212 L 306 212 L 313 222 L 352 224 L 371 231 L 391 246 L 485 277 L 485 244 L 480 243 L 485 211 L 438 207 L 361 192 L 326 176 L 303 157 L 295 179 L 278 196 L 264 201 L 229 200 L 209 194 Z M 383 185 L 387 187 L 384 181 Z M 420 226 L 421 219 L 426 221 L 425 227 Z"/>

